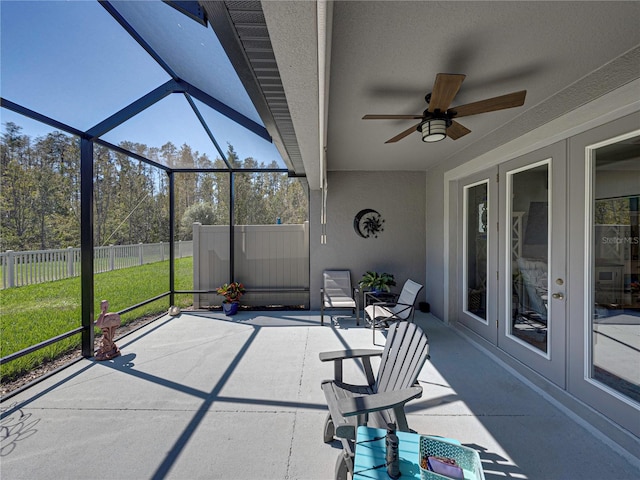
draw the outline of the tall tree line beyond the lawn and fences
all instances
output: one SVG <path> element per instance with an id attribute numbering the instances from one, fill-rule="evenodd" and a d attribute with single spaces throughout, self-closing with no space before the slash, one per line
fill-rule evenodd
<path id="1" fill-rule="evenodd" d="M 13 122 L 0 137 L 0 245 L 4 250 L 46 250 L 80 243 L 80 141 L 59 131 L 31 138 Z M 171 168 L 226 169 L 221 158 L 183 144 L 161 147 L 122 142 L 123 149 Z M 226 157 L 236 168 L 277 168 Z M 302 223 L 307 192 L 286 173 L 234 173 L 237 225 Z M 100 245 L 169 241 L 169 179 L 162 169 L 94 144 L 94 242 Z M 229 172 L 175 173 L 176 240 L 190 240 L 193 222 L 228 225 Z"/>

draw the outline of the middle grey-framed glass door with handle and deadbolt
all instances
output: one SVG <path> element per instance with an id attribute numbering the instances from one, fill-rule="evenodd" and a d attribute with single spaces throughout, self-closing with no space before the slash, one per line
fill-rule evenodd
<path id="1" fill-rule="evenodd" d="M 564 143 L 499 167 L 498 345 L 564 388 L 567 292 Z"/>

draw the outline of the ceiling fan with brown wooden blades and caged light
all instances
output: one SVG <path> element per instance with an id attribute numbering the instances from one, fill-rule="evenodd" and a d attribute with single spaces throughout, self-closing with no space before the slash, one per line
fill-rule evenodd
<path id="1" fill-rule="evenodd" d="M 365 115 L 362 119 L 420 120 L 417 125 L 407 128 L 384 143 L 395 143 L 415 131 L 422 132 L 423 142 L 438 142 L 446 137 L 457 140 L 471 133 L 471 130 L 456 122 L 454 118 L 494 112 L 496 110 L 519 107 L 524 104 L 524 98 L 527 95 L 526 90 L 449 108 L 464 79 L 465 75 L 461 74 L 437 74 L 433 91 L 425 97 L 429 107 L 422 115 Z"/>

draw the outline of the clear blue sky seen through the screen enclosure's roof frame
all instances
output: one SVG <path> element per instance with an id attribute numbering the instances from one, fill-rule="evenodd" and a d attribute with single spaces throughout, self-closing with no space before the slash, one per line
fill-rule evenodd
<path id="1" fill-rule="evenodd" d="M 175 27 L 175 32 L 166 32 L 167 41 L 183 30 L 197 28 L 197 38 L 205 36 L 217 42 L 210 28 L 203 31 L 171 7 L 158 3 L 155 10 Z M 2 97 L 79 130 L 90 129 L 170 79 L 97 1 L 2 0 L 0 17 Z M 157 35 L 162 41 L 162 35 Z M 230 74 L 237 78 L 226 72 Z M 228 88 L 229 80 L 224 83 Z M 265 163 L 277 160 L 283 166 L 273 144 L 203 107 L 203 116 L 223 151 L 230 142 L 241 158 L 251 156 Z M 13 121 L 24 125 L 24 133 L 30 136 L 51 131 L 7 109 L 1 109 L 0 114 L 3 124 Z M 155 147 L 167 141 L 177 146 L 186 143 L 211 158 L 217 156 L 182 94 L 166 97 L 103 138 L 111 143 L 130 140 Z"/>

